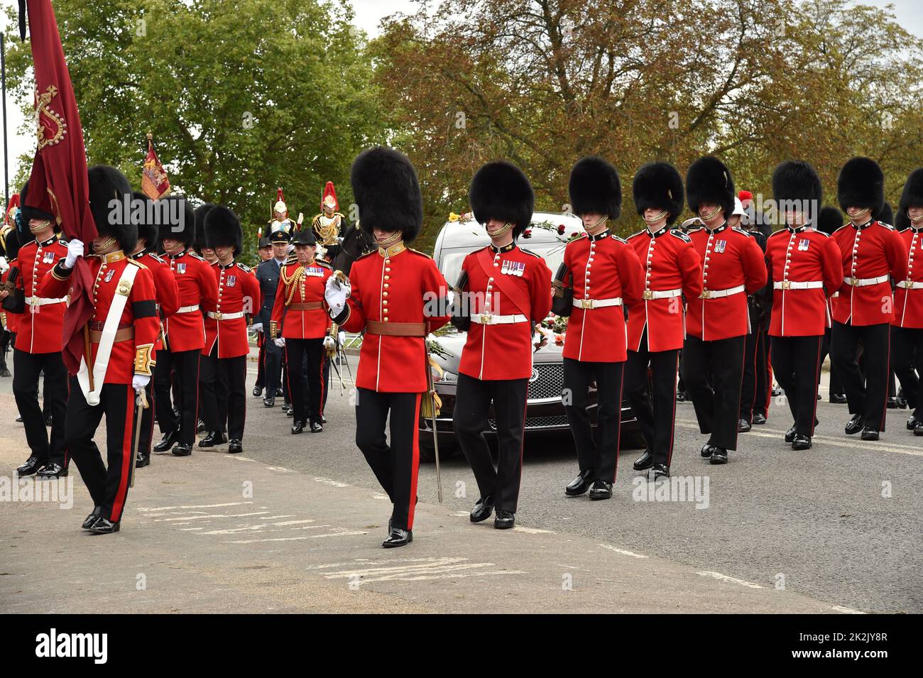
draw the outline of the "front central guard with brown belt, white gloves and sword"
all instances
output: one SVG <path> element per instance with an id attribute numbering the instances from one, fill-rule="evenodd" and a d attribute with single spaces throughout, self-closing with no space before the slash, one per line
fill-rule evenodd
<path id="1" fill-rule="evenodd" d="M 365 330 L 355 381 L 355 444 L 393 504 L 382 543 L 393 548 L 414 539 L 417 421 L 430 369 L 425 341 L 449 320 L 448 286 L 430 257 L 406 246 L 423 225 L 410 161 L 392 149 L 367 149 L 350 178 L 360 227 L 378 250 L 355 260 L 348 282 L 328 278 L 324 294 L 334 323 L 347 332 Z"/>

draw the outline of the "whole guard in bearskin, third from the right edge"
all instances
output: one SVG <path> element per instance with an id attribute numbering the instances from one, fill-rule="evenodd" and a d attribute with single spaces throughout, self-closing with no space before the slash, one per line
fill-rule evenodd
<path id="1" fill-rule="evenodd" d="M 807 162 L 785 161 L 773 172 L 773 197 L 785 228 L 766 242 L 773 282 L 773 372 L 795 423 L 785 433 L 792 449 L 809 449 L 817 410 L 817 375 L 827 297 L 843 284 L 840 250 L 816 228 L 821 179 Z"/>

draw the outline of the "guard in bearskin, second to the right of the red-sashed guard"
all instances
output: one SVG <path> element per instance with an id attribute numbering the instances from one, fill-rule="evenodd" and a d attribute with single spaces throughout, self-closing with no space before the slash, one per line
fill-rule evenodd
<path id="1" fill-rule="evenodd" d="M 631 190 L 647 228 L 628 240 L 644 267 L 644 288 L 641 303 L 629 307 L 625 395 L 647 447 L 634 469 L 651 469 L 656 479 L 670 474 L 677 364 L 686 338 L 683 298 L 699 298 L 701 263 L 689 236 L 671 228 L 683 211 L 683 180 L 676 168 L 666 162 L 644 165 Z"/>

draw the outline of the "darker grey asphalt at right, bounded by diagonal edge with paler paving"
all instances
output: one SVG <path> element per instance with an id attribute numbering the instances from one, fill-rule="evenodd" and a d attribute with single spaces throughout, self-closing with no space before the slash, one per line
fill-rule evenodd
<path id="1" fill-rule="evenodd" d="M 888 431 L 878 443 L 846 436 L 846 406 L 827 402 L 825 385 L 821 394 L 811 450 L 795 452 L 782 440 L 790 415 L 784 401 L 773 398 L 767 424 L 741 434 L 725 466 L 701 459 L 704 436 L 692 405 L 677 403 L 671 473 L 707 478 L 707 508 L 633 500 L 632 479 L 641 475 L 631 468 L 640 452 L 634 449 L 622 451 L 611 500 L 566 497 L 564 485 L 577 471 L 569 436 L 527 439 L 517 522 L 862 611 L 923 612 L 923 439 L 905 430 L 907 410 L 889 410 Z M 247 456 L 377 487 L 354 446 L 354 412 L 339 385 L 322 434 L 280 438 L 291 420 L 278 406 L 266 410 L 248 394 L 247 407 Z M 470 510 L 477 500 L 461 454 L 443 460 L 442 485 L 452 509 Z M 421 465 L 418 487 L 421 501 L 437 501 L 435 465 Z"/>

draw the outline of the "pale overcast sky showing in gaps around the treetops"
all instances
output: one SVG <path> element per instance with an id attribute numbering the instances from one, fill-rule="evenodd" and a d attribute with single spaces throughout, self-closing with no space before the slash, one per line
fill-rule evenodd
<path id="1" fill-rule="evenodd" d="M 365 30 L 369 36 L 378 34 L 378 24 L 382 18 L 395 12 L 412 12 L 416 7 L 411 0 L 352 0 L 352 4 L 355 10 L 356 25 Z M 862 0 L 861 3 L 856 2 L 854 4 L 893 5 L 898 22 L 905 29 L 923 36 L 923 0 Z M 16 5 L 16 0 L 0 0 L 0 6 Z M 5 21 L 6 19 L 3 20 Z M 9 140 L 10 172 L 14 173 L 16 172 L 16 159 L 18 156 L 21 153 L 32 152 L 35 149 L 35 137 L 31 132 L 28 134 L 19 133 L 23 115 L 19 111 L 16 101 L 7 99 L 6 114 L 8 115 L 6 130 Z M 12 186 L 10 188 L 15 190 Z M 2 194 L 0 194 L 0 199 L 2 199 Z"/>

